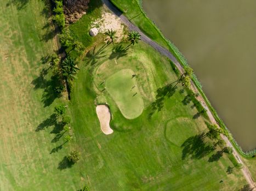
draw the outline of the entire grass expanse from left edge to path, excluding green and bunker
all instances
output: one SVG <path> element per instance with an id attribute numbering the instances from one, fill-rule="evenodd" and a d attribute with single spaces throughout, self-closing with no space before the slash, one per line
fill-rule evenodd
<path id="1" fill-rule="evenodd" d="M 193 119 L 192 103 L 182 103 L 182 87 L 170 86 L 177 78 L 166 58 L 143 43 L 117 58 L 109 46 L 96 58 L 100 62 L 88 62 L 90 57 L 79 64 L 67 102 L 54 93 L 48 65 L 42 64 L 54 47 L 43 1 L 7 2 L 0 3 L 0 190 L 77 190 L 84 184 L 91 190 L 235 190 L 246 183 L 240 171 L 226 174 L 232 165 L 227 156 L 215 162 L 208 162 L 215 151 L 204 156 L 194 135 L 206 125 L 201 117 Z M 122 69 L 139 71 L 145 109 L 133 120 L 98 87 Z M 111 135 L 101 132 L 95 112 L 104 99 L 112 112 Z M 57 103 L 66 104 L 72 116 L 69 144 L 52 115 Z M 65 156 L 74 149 L 82 159 L 70 166 Z"/>

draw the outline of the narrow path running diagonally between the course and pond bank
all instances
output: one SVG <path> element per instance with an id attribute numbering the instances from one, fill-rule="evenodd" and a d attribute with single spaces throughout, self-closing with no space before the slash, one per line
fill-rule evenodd
<path id="1" fill-rule="evenodd" d="M 167 49 L 165 49 L 164 47 L 160 46 L 159 44 L 157 44 L 155 41 L 151 40 L 149 37 L 147 37 L 143 32 L 140 31 L 140 29 L 138 27 L 136 27 L 135 25 L 133 25 L 133 23 L 131 23 L 126 16 L 122 15 L 122 13 L 116 9 L 116 7 L 109 2 L 109 0 L 101 0 L 107 8 L 109 8 L 113 14 L 115 14 L 116 16 L 120 17 L 121 21 L 128 26 L 128 28 L 132 31 L 138 31 L 141 35 L 141 40 L 144 41 L 145 43 L 149 44 L 150 46 L 152 46 L 154 49 L 156 49 L 158 52 L 160 52 L 162 55 L 168 57 L 175 65 L 176 67 L 181 71 L 181 73 L 184 72 L 183 67 L 181 66 L 181 64 L 177 61 L 177 59 L 173 56 L 173 54 L 171 52 L 169 52 Z M 195 91 L 195 93 L 199 93 L 197 87 L 195 86 L 194 82 L 191 81 L 191 85 L 192 85 L 192 89 Z M 217 124 L 217 122 L 215 121 L 215 118 L 212 115 L 212 112 L 209 110 L 208 106 L 206 105 L 206 102 L 204 101 L 203 97 L 198 96 L 197 97 L 198 101 L 201 102 L 201 104 L 203 105 L 203 107 L 207 110 L 207 114 L 210 118 L 210 120 L 212 121 L 213 124 Z M 218 125 L 218 124 L 217 124 Z M 231 144 L 231 142 L 229 141 L 229 139 L 226 138 L 226 136 L 221 136 L 221 138 L 223 138 L 223 140 L 226 142 L 227 146 L 232 147 L 234 152 L 234 156 L 236 157 L 237 161 L 241 164 L 243 164 L 243 175 L 246 178 L 246 181 L 248 182 L 248 184 L 251 185 L 252 188 L 254 188 L 253 190 L 256 191 L 256 183 L 254 183 L 253 178 L 247 168 L 247 166 L 243 163 L 243 161 L 240 158 L 240 155 L 237 153 L 236 149 L 234 148 L 234 146 Z"/>

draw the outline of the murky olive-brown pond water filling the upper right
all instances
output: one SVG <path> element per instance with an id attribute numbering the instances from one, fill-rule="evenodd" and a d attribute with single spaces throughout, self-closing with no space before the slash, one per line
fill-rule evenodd
<path id="1" fill-rule="evenodd" d="M 244 151 L 256 147 L 256 1 L 143 0 Z"/>

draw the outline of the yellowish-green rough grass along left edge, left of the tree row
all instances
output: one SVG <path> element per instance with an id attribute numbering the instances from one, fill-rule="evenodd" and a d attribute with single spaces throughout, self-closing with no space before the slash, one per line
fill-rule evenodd
<path id="1" fill-rule="evenodd" d="M 42 0 L 0 1 L 0 190 L 77 190 L 63 132 L 53 115 L 60 103 L 45 56 L 56 50 Z M 71 143 L 72 144 L 72 143 Z"/>

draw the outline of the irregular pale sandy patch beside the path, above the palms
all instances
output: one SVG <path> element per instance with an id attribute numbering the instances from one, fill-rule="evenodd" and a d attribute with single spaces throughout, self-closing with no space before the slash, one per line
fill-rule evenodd
<path id="1" fill-rule="evenodd" d="M 123 38 L 123 25 L 120 19 L 111 13 L 103 13 L 100 19 L 92 23 L 92 28 L 98 28 L 100 33 L 107 32 L 107 29 L 116 31 L 117 42 Z"/>

